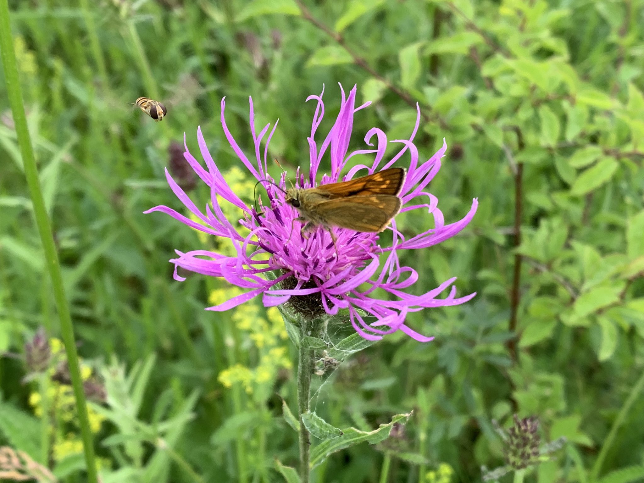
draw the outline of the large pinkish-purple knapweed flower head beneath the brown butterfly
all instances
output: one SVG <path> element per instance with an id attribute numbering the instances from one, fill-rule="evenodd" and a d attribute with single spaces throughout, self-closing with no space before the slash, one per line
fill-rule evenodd
<path id="1" fill-rule="evenodd" d="M 260 204 L 258 209 L 247 206 L 238 194 L 232 191 L 208 152 L 201 129 L 198 128 L 197 138 L 207 169 L 204 169 L 189 153 L 187 146 L 184 156 L 197 175 L 211 189 L 211 200 L 209 204 L 205 205 L 205 213 L 202 213 L 176 184 L 167 169 L 166 178 L 172 191 L 201 223 L 194 222 L 166 206 L 156 206 L 145 212 L 162 211 L 194 229 L 231 240 L 236 251 L 234 256 L 224 256 L 205 250 L 186 253 L 176 251 L 178 258 L 170 260 L 175 264 L 175 279 L 177 280 L 185 279 L 176 271 L 177 267 L 181 267 L 192 272 L 221 277 L 233 285 L 248 289 L 247 292 L 220 305 L 209 307 L 207 310 L 228 310 L 261 295 L 266 307 L 289 302 L 296 312 L 307 312 L 308 310 L 309 316 L 319 316 L 325 312 L 334 315 L 339 310 L 346 309 L 353 327 L 365 339 L 377 340 L 385 334 L 402 330 L 417 341 L 427 342 L 431 341 L 433 337 L 422 336 L 404 324 L 408 312 L 416 312 L 430 307 L 459 305 L 475 296 L 475 294 L 470 294 L 456 298 L 456 287 L 453 286 L 456 278 L 450 278 L 439 287 L 422 295 L 412 295 L 403 291 L 417 281 L 418 272 L 412 267 L 401 266 L 399 252 L 401 250 L 424 249 L 451 238 L 469 223 L 476 212 L 478 202 L 476 199 L 473 200 L 469 213 L 459 222 L 449 225 L 444 223 L 443 215 L 437 207 L 438 199 L 424 190 L 440 169 L 440 158 L 445 153 L 446 144 L 443 141 L 443 146 L 435 155 L 425 162 L 419 162 L 418 150 L 413 144 L 413 138 L 420 123 L 418 107 L 416 125 L 412 135 L 409 139 L 392 141 L 403 146 L 391 159 L 384 160 L 387 137 L 378 128 L 370 129 L 365 135 L 365 142 L 371 147 L 374 146 L 371 142 L 372 138 L 374 136 L 377 138 L 375 149 L 359 149 L 347 155 L 354 114 L 370 104 L 370 102 L 366 102 L 355 107 L 355 90 L 354 87 L 348 97 L 342 90 L 342 103 L 336 122 L 321 144 L 318 144 L 316 140 L 316 131 L 324 116 L 322 102 L 324 90 L 319 96 L 308 97 L 307 101 L 315 100 L 317 102 L 311 134 L 307 138 L 310 164 L 298 168 L 297 187 L 309 188 L 318 185 L 317 171 L 327 152 L 330 155 L 331 172 L 328 175 L 322 175 L 319 184 L 348 180 L 392 166 L 404 166 L 408 171 L 403 189 L 399 194 L 403 200 L 401 212 L 426 209 L 433 216 L 434 227 L 421 230 L 412 238 L 405 238 L 397 229 L 395 220 L 392 220 L 388 228 L 392 232 L 392 243 L 388 247 L 381 247 L 378 244 L 379 234 L 377 233 L 355 232 L 337 227 L 333 228 L 336 235 L 335 246 L 330 233 L 324 227 L 317 227 L 310 234 L 303 235 L 301 233 L 302 223 L 294 221 L 298 217 L 298 213 L 296 209 L 285 203 L 285 194 L 281 191 L 287 188 L 285 175 L 281 175 L 279 180 L 274 180 L 268 173 L 269 142 L 277 127 L 277 122 L 270 130 L 265 146 L 262 148 L 261 141 L 268 132 L 270 124 L 264 126 L 260 133 L 256 134 L 252 99 L 250 99 L 250 127 L 254 144 L 254 158 L 251 161 L 226 126 L 224 119 L 225 99 L 222 99 L 223 133 L 233 151 L 254 178 L 269 180 L 281 188 L 278 189 L 267 182 L 261 184 L 268 193 L 270 206 L 262 207 Z M 408 166 L 403 165 L 401 160 L 406 152 L 411 158 Z M 372 153 L 375 153 L 375 159 L 371 166 L 361 164 L 352 167 L 342 176 L 343 170 L 352 156 Z M 307 170 L 308 173 L 305 173 Z M 228 220 L 223 214 L 218 197 L 223 202 L 240 208 L 243 211 L 243 218 Z M 240 229 L 244 233 L 249 232 L 242 235 Z M 269 271 L 277 273 L 276 278 L 262 276 Z M 450 287 L 451 289 L 445 298 L 437 298 Z M 383 290 L 388 296 L 375 297 L 374 291 L 376 289 Z M 303 308 L 302 305 L 308 309 Z M 375 317 L 375 321 L 366 321 L 366 317 L 370 319 Z"/>

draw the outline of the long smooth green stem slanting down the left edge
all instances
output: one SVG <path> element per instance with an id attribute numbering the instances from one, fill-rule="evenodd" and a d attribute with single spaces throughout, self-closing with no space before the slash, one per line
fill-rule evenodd
<path id="1" fill-rule="evenodd" d="M 82 388 L 81 368 L 76 352 L 76 341 L 74 339 L 73 325 L 71 324 L 70 308 L 65 297 L 64 286 L 62 285 L 61 267 L 58 254 L 53 242 L 52 228 L 45 209 L 43 192 L 38 180 L 38 169 L 33 157 L 32 141 L 27 127 L 27 118 L 24 114 L 23 93 L 20 88 L 18 68 L 15 63 L 14 41 L 11 35 L 9 21 L 9 5 L 7 0 L 0 0 L 0 50 L 2 51 L 2 63 L 5 70 L 6 91 L 14 115 L 15 132 L 23 158 L 24 175 L 29 186 L 29 193 L 33 203 L 33 215 L 38 226 L 38 232 L 43 243 L 44 255 L 47 261 L 47 269 L 52 279 L 53 295 L 56 300 L 56 307 L 61 319 L 61 336 L 67 352 L 67 360 L 70 368 L 71 384 L 73 386 L 76 408 L 78 411 L 79 424 L 81 426 L 81 437 L 85 452 L 87 465 L 88 483 L 97 483 L 96 464 L 94 460 L 94 448 L 92 446 L 90 421 L 87 416 L 87 406 Z"/>

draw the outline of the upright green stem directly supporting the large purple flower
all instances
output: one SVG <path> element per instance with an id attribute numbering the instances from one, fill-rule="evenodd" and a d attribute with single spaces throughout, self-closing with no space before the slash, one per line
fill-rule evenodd
<path id="1" fill-rule="evenodd" d="M 313 321 L 305 318 L 301 319 L 300 341 L 304 337 L 312 335 L 312 327 Z M 298 353 L 299 477 L 301 478 L 301 483 L 308 483 L 310 473 L 308 449 L 311 442 L 308 430 L 302 422 L 302 415 L 309 410 L 308 401 L 310 399 L 313 366 L 313 350 L 301 344 Z"/>

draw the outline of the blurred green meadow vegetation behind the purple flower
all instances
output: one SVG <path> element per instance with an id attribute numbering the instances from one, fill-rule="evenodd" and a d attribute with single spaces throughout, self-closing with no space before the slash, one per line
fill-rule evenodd
<path id="1" fill-rule="evenodd" d="M 542 446 L 566 439 L 525 481 L 644 480 L 644 1 L 9 4 L 103 483 L 279 482 L 282 464 L 296 466 L 282 403 L 296 408 L 296 350 L 279 314 L 259 302 L 204 311 L 233 290 L 194 274 L 173 281 L 167 260 L 229 247 L 142 212 L 187 214 L 164 167 L 205 206 L 181 156 L 185 133 L 200 158 L 198 126 L 250 203 L 222 97 L 247 153 L 249 96 L 257 126 L 279 118 L 269 156 L 293 173 L 308 163 L 305 99 L 325 86 L 325 134 L 338 82 L 373 102 L 355 117 L 351 149 L 372 126 L 408 137 L 417 102 L 421 156 L 446 139 L 431 193 L 447 222 L 474 197 L 478 212 L 402 261 L 421 274 L 415 293 L 457 276 L 460 294 L 477 296 L 408 317 L 431 343 L 388 336 L 337 368 L 319 353 L 312 408 L 334 426 L 370 431 L 413 415 L 377 445 L 330 455 L 312 481 L 481 481 L 482 466 L 504 466 L 495 427 L 515 413 L 538 418 Z M 81 483 L 52 285 L 0 90 L 0 444 L 50 468 L 41 482 Z M 167 117 L 128 104 L 139 96 L 164 102 Z M 430 218 L 399 223 L 413 234 Z M 45 339 L 40 352 L 28 345 L 39 327 L 44 361 Z"/>

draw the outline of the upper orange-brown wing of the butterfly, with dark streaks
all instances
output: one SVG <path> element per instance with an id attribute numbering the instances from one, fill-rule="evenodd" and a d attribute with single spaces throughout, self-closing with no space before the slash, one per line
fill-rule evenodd
<path id="1" fill-rule="evenodd" d="M 317 189 L 330 193 L 330 198 L 342 196 L 371 196 L 372 194 L 389 194 L 396 196 L 403 188 L 406 170 L 392 167 L 378 171 L 373 175 L 362 176 L 339 183 L 319 185 Z"/>

